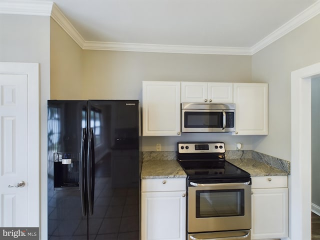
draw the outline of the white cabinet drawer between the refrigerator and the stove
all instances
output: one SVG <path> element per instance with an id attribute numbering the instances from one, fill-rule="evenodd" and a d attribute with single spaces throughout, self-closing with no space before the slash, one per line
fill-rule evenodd
<path id="1" fill-rule="evenodd" d="M 152 178 L 141 180 L 141 191 L 185 191 L 186 178 Z"/>

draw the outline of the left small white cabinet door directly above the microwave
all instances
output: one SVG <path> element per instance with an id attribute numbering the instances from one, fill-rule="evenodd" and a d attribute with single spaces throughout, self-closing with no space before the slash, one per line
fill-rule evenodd
<path id="1" fill-rule="evenodd" d="M 181 102 L 206 102 L 207 100 L 206 82 L 181 82 Z"/>

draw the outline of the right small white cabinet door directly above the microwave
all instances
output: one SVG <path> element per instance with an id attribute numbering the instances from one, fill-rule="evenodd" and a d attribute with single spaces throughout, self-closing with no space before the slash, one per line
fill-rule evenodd
<path id="1" fill-rule="evenodd" d="M 233 83 L 232 82 L 208 82 L 207 98 L 214 103 L 233 102 Z"/>

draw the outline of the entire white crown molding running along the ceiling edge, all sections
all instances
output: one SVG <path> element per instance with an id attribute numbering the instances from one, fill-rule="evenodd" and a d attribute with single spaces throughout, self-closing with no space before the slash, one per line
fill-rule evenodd
<path id="1" fill-rule="evenodd" d="M 317 0 L 307 9 L 284 23 L 282 26 L 271 32 L 252 47 L 219 47 L 85 41 L 53 1 L 1 0 L 0 13 L 51 16 L 52 19 L 54 19 L 60 25 L 60 27 L 84 50 L 253 55 L 283 35 L 300 26 L 307 20 L 319 14 L 320 0 Z"/>

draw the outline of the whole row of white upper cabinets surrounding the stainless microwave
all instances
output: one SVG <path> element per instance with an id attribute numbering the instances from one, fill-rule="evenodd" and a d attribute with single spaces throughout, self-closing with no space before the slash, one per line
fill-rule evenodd
<path id="1" fill-rule="evenodd" d="M 142 135 L 180 135 L 181 102 L 233 102 L 233 135 L 268 134 L 267 83 L 143 81 Z"/>

